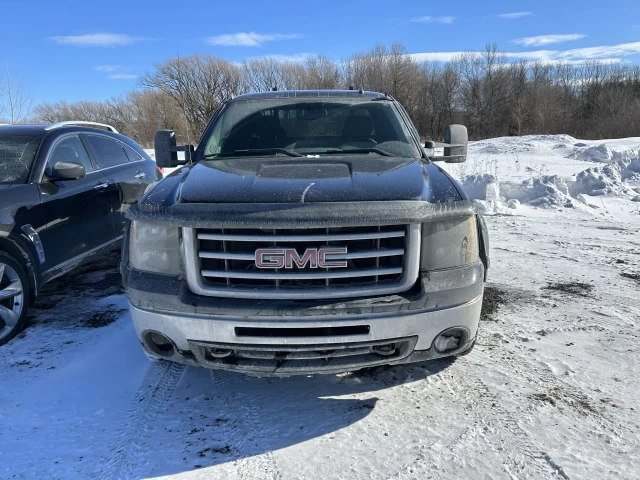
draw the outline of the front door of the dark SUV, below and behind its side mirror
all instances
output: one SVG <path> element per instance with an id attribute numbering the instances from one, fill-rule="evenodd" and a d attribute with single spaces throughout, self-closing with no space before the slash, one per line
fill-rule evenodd
<path id="1" fill-rule="evenodd" d="M 87 172 L 78 180 L 47 180 L 57 162 L 77 162 Z M 44 246 L 44 269 L 112 242 L 113 212 L 108 181 L 96 171 L 78 135 L 66 135 L 54 142 L 47 155 L 40 186 L 47 222 L 40 238 Z"/>

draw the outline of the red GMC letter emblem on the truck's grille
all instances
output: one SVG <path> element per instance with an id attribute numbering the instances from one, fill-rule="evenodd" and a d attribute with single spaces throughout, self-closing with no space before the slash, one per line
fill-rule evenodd
<path id="1" fill-rule="evenodd" d="M 344 268 L 346 260 L 331 260 L 328 255 L 347 253 L 347 247 L 307 248 L 302 256 L 295 248 L 259 248 L 256 250 L 258 268 Z"/>

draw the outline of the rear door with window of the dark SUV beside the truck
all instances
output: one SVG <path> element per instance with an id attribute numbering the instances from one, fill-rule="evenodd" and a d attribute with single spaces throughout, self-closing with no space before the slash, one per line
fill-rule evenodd
<path id="1" fill-rule="evenodd" d="M 120 235 L 126 223 L 125 213 L 131 205 L 138 203 L 147 185 L 154 179 L 148 178 L 144 170 L 144 159 L 128 145 L 106 135 L 85 133 L 83 137 L 91 148 L 94 162 L 102 169 L 110 185 L 113 185 L 114 227 Z M 138 155 L 139 160 L 130 161 L 127 153 L 131 156 L 132 153 L 125 152 L 125 149 Z"/>

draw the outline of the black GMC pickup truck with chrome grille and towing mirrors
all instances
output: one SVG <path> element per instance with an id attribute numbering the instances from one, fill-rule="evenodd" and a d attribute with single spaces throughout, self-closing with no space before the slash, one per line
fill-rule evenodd
<path id="1" fill-rule="evenodd" d="M 466 129 L 445 137 L 361 90 L 238 96 L 197 149 L 158 132 L 158 166 L 184 166 L 128 210 L 122 260 L 145 351 L 254 375 L 468 353 L 488 236 L 433 163 L 465 161 Z"/>

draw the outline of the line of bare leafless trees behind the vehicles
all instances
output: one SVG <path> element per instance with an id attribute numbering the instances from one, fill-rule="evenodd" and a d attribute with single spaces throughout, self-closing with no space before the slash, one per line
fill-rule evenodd
<path id="1" fill-rule="evenodd" d="M 362 88 L 388 93 L 425 139 L 451 123 L 472 139 L 567 133 L 598 139 L 638 135 L 640 67 L 590 61 L 510 61 L 495 45 L 449 62 L 419 62 L 401 44 L 379 45 L 346 60 L 256 58 L 230 63 L 208 54 L 171 58 L 135 90 L 107 101 L 38 105 L 33 120 L 90 120 L 114 125 L 145 147 L 156 130 L 197 143 L 214 111 L 232 96 L 272 89 Z"/>

